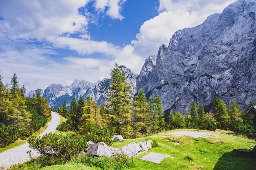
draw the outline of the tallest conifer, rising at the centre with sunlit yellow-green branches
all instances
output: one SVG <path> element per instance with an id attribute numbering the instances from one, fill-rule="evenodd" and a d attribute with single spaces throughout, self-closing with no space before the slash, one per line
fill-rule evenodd
<path id="1" fill-rule="evenodd" d="M 126 77 L 121 72 L 118 64 L 111 71 L 110 88 L 107 92 L 106 107 L 109 115 L 108 126 L 112 132 L 124 137 L 132 136 L 131 127 L 131 86 L 126 82 Z"/>

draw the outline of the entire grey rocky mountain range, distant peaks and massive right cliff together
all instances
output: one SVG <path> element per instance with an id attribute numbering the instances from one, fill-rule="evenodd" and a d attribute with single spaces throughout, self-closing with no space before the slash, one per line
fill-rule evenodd
<path id="1" fill-rule="evenodd" d="M 228 104 L 236 99 L 246 108 L 256 100 L 255 12 L 255 0 L 238 0 L 202 24 L 176 31 L 168 46 L 146 59 L 139 75 L 120 66 L 133 94 L 142 88 L 147 97 L 159 95 L 166 113 L 185 113 L 192 100 L 210 108 L 215 96 Z M 75 80 L 70 86 L 51 84 L 41 93 L 52 108 L 79 95 L 91 95 L 101 105 L 108 87 L 109 79 Z"/>

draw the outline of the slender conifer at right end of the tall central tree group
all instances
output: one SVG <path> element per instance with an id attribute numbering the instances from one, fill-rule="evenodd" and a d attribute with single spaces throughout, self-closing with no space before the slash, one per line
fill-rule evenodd
<path id="1" fill-rule="evenodd" d="M 155 104 L 156 104 L 156 112 L 157 112 L 157 117 L 159 119 L 159 123 L 158 123 L 158 131 L 162 131 L 165 128 L 165 122 L 164 122 L 164 112 L 163 112 L 163 108 L 164 106 L 162 105 L 161 99 L 159 97 L 159 95 L 157 95 L 157 97 L 155 97 Z"/>

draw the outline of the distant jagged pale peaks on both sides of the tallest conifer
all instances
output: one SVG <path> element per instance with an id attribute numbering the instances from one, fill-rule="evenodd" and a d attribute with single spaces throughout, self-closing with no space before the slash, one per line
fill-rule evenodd
<path id="1" fill-rule="evenodd" d="M 132 86 L 132 94 L 136 91 L 136 77 L 135 73 L 127 68 L 126 66 L 119 66 L 121 71 L 123 71 L 126 75 L 126 81 L 128 84 Z M 75 79 L 70 86 L 63 86 L 61 84 L 50 84 L 45 90 L 39 89 L 40 94 L 47 98 L 49 102 L 49 106 L 57 109 L 60 104 L 64 102 L 67 103 L 67 107 L 69 108 L 72 98 L 75 97 L 76 100 L 79 99 L 81 95 L 83 99 L 85 99 L 88 95 L 92 97 L 93 100 L 97 101 L 98 105 L 106 102 L 106 91 L 109 88 L 110 79 L 103 79 L 97 81 L 95 84 L 92 82 L 88 82 L 85 80 Z M 35 91 L 29 91 L 27 97 L 32 97 Z"/>

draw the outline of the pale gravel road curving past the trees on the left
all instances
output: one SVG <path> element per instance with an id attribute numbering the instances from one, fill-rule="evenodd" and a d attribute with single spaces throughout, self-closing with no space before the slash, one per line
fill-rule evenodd
<path id="1" fill-rule="evenodd" d="M 50 132 L 54 133 L 59 124 L 60 117 L 58 113 L 52 112 L 52 120 L 47 124 L 47 129 L 40 136 L 43 136 L 46 133 Z M 31 150 L 31 155 L 33 158 L 39 157 L 38 153 L 35 150 L 29 148 L 28 143 L 0 153 L 0 170 L 7 170 L 13 165 L 29 161 L 30 158 L 27 154 L 27 151 L 29 150 Z"/>

